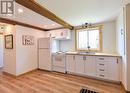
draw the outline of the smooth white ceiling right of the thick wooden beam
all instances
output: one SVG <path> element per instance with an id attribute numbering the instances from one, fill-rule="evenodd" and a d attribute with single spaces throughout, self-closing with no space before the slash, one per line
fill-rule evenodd
<path id="1" fill-rule="evenodd" d="M 35 0 L 72 26 L 114 20 L 121 0 Z"/>

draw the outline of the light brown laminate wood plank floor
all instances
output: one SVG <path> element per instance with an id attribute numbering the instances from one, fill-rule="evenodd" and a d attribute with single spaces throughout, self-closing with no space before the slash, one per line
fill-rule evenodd
<path id="1" fill-rule="evenodd" d="M 0 72 L 0 93 L 79 93 L 81 88 L 99 93 L 125 93 L 118 84 L 36 70 L 17 78 Z"/>

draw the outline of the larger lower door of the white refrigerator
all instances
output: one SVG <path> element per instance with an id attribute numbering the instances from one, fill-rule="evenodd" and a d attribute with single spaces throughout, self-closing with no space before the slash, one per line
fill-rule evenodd
<path id="1" fill-rule="evenodd" d="M 50 50 L 39 49 L 39 69 L 51 70 Z"/>

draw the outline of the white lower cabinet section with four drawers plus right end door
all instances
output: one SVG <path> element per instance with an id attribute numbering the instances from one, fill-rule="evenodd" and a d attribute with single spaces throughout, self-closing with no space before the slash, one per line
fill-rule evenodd
<path id="1" fill-rule="evenodd" d="M 120 63 L 116 57 L 96 57 L 97 77 L 120 81 Z"/>

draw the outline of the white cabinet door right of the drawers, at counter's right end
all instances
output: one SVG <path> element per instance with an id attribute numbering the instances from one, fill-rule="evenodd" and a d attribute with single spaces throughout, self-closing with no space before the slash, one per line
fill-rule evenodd
<path id="1" fill-rule="evenodd" d="M 119 81 L 119 66 L 120 63 L 118 62 L 117 58 L 110 58 L 110 61 L 108 62 L 108 79 Z"/>

